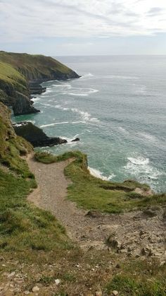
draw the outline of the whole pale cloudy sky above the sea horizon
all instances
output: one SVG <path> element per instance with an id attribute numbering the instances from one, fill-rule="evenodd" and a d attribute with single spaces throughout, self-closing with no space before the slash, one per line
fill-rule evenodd
<path id="1" fill-rule="evenodd" d="M 0 0 L 0 50 L 166 54 L 166 0 Z"/>

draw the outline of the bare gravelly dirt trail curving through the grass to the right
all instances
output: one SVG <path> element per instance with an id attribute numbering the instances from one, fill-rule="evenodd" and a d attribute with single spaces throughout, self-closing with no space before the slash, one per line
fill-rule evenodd
<path id="1" fill-rule="evenodd" d="M 84 249 L 108 249 L 106 239 L 112 236 L 110 249 L 115 248 L 125 256 L 157 256 L 165 260 L 165 210 L 159 207 L 152 213 L 107 215 L 92 212 L 87 215 L 87 211 L 67 199 L 70 180 L 66 179 L 64 169 L 71 161 L 45 165 L 29 155 L 27 163 L 38 184 L 28 197 L 29 201 L 51 211 L 65 226 L 68 236 Z"/>

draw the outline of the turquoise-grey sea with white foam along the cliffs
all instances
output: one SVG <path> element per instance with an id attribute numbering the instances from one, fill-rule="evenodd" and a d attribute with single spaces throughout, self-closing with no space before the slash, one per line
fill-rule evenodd
<path id="1" fill-rule="evenodd" d="M 166 191 L 166 56 L 58 57 L 82 75 L 44 83 L 31 120 L 49 136 L 80 142 L 44 148 L 82 150 L 91 172 L 105 179 L 136 179 Z"/>

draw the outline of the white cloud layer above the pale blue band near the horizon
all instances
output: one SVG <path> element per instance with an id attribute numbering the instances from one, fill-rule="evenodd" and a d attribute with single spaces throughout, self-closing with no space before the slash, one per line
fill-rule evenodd
<path id="1" fill-rule="evenodd" d="M 166 1 L 0 0 L 0 40 L 166 32 Z"/>

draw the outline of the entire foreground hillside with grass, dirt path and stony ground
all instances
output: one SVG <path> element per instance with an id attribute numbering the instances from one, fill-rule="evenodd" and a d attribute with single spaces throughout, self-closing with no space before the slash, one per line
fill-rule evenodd
<path id="1" fill-rule="evenodd" d="M 80 152 L 34 155 L 2 103 L 0 138 L 1 295 L 165 295 L 165 194 L 96 179 Z"/>

